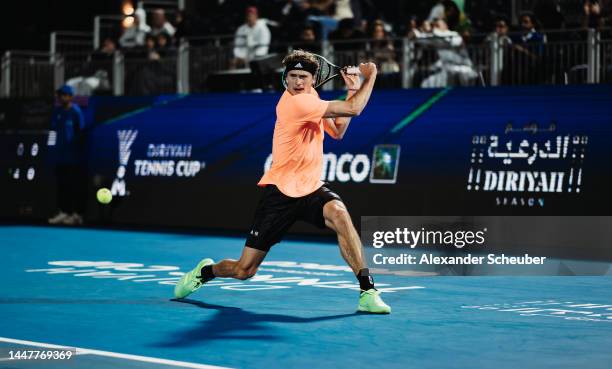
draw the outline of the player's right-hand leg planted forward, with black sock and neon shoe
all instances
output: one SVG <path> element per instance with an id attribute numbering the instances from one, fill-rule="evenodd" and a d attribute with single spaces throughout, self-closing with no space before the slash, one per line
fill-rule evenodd
<path id="1" fill-rule="evenodd" d="M 325 225 L 336 232 L 340 253 L 351 267 L 361 294 L 359 295 L 358 311 L 388 314 L 391 308 L 380 298 L 380 292 L 374 288 L 374 279 L 363 259 L 363 247 L 353 221 L 340 200 L 332 200 L 323 206 Z"/>

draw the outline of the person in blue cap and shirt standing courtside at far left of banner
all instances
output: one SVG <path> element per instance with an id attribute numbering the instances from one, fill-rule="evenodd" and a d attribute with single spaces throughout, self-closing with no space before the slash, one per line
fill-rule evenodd
<path id="1" fill-rule="evenodd" d="M 85 120 L 78 105 L 72 102 L 74 89 L 64 85 L 57 91 L 60 106 L 53 109 L 51 130 L 57 135 L 56 176 L 59 212 L 50 224 L 77 225 L 83 223 L 83 192 L 86 187 L 81 165 L 85 135 Z"/>

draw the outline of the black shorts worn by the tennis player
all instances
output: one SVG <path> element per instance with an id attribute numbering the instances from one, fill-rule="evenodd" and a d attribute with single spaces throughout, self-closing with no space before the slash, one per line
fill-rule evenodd
<path id="1" fill-rule="evenodd" d="M 303 197 L 289 197 L 276 186 L 267 185 L 257 205 L 246 246 L 268 252 L 298 220 L 325 228 L 323 206 L 332 200 L 342 201 L 326 185 Z"/>

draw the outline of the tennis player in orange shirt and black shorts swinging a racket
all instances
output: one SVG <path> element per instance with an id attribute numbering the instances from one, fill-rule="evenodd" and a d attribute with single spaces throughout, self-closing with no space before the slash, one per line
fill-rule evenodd
<path id="1" fill-rule="evenodd" d="M 324 101 L 313 87 L 319 68 L 312 54 L 296 50 L 283 60 L 287 89 L 276 106 L 272 141 L 272 167 L 259 181 L 265 187 L 253 226 L 239 260 L 214 263 L 203 259 L 177 283 L 174 294 L 183 298 L 215 277 L 248 279 L 270 248 L 298 220 L 329 227 L 338 236 L 340 253 L 351 267 L 361 289 L 358 311 L 388 314 L 363 258 L 359 235 L 340 196 L 321 182 L 324 131 L 342 139 L 351 121 L 365 108 L 376 80 L 376 65 L 362 63 L 364 77 L 342 72 L 348 88 L 346 101 Z"/>

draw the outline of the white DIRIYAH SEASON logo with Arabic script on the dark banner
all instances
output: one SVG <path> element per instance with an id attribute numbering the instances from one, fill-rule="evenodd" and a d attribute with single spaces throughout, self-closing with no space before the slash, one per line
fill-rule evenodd
<path id="1" fill-rule="evenodd" d="M 508 134 L 530 132 L 526 138 L 472 137 L 468 191 L 495 194 L 496 206 L 526 207 L 544 207 L 549 193 L 581 192 L 589 137 L 551 135 L 556 128 L 528 129 L 506 129 Z"/>

